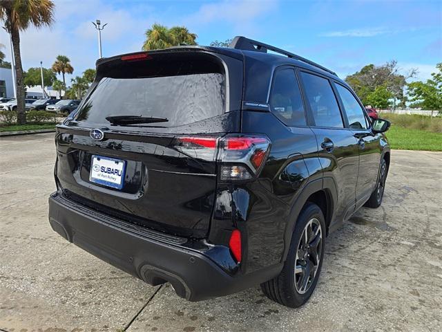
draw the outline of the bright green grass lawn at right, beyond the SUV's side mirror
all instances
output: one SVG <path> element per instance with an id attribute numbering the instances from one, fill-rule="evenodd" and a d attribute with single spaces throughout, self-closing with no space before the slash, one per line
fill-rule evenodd
<path id="1" fill-rule="evenodd" d="M 442 151 L 442 133 L 409 129 L 392 124 L 386 135 L 392 149 Z"/>

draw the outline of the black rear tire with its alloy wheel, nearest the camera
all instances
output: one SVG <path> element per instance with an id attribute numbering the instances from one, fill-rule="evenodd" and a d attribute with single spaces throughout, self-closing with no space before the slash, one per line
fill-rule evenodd
<path id="1" fill-rule="evenodd" d="M 309 241 L 305 241 L 306 235 Z M 310 245 L 308 249 L 305 249 L 305 243 Z M 311 246 L 312 243 L 316 243 L 316 250 L 314 246 Z M 318 255 L 314 255 L 315 252 Z M 307 203 L 296 221 L 287 259 L 281 273 L 261 284 L 262 292 L 269 299 L 283 306 L 290 308 L 302 306 L 316 288 L 324 254 L 324 215 L 318 205 Z"/>

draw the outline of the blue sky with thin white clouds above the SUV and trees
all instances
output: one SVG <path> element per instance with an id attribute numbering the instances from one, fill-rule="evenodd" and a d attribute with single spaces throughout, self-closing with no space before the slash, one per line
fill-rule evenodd
<path id="1" fill-rule="evenodd" d="M 442 1 L 55 1 L 55 24 L 21 35 L 23 67 L 50 67 L 67 55 L 81 75 L 97 59 L 97 31 L 108 23 L 103 56 L 141 49 L 153 23 L 184 25 L 210 44 L 244 35 L 323 64 L 340 77 L 365 64 L 396 59 L 403 73 L 418 68 L 426 80 L 442 62 Z M 0 29 L 0 42 L 9 37 Z M 69 82 L 70 77 L 68 76 Z"/>

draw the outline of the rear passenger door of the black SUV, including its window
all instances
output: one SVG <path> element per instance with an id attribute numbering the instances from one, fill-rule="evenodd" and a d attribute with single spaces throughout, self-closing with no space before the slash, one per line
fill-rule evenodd
<path id="1" fill-rule="evenodd" d="M 318 142 L 324 177 L 333 178 L 338 192 L 336 221 L 354 212 L 358 177 L 358 141 L 345 120 L 328 77 L 300 70 L 309 122 Z"/>

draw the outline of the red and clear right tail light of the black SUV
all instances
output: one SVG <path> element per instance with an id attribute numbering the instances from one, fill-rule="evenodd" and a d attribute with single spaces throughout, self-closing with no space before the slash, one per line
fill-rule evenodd
<path id="1" fill-rule="evenodd" d="M 221 181 L 247 181 L 257 176 L 267 160 L 267 136 L 229 134 L 184 136 L 175 140 L 175 149 L 192 158 L 220 163 Z"/>

